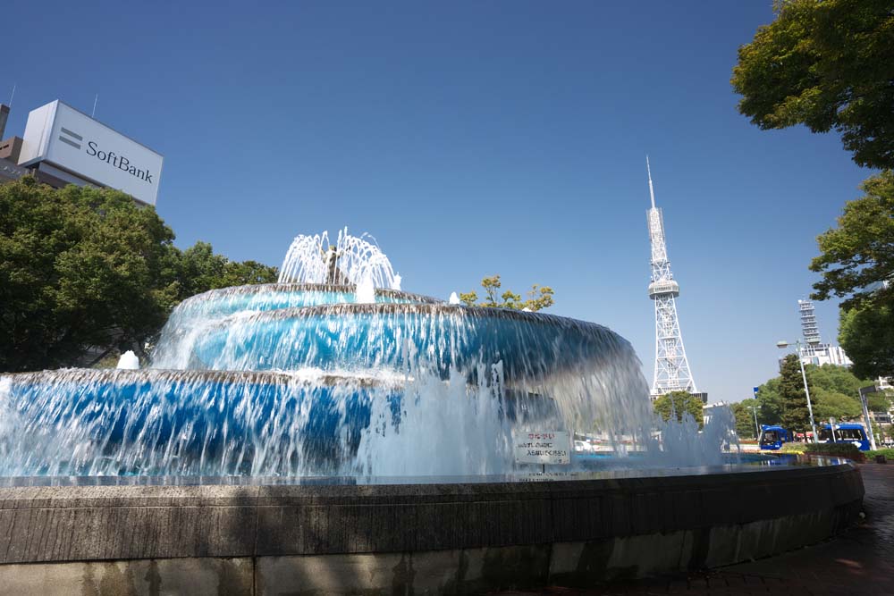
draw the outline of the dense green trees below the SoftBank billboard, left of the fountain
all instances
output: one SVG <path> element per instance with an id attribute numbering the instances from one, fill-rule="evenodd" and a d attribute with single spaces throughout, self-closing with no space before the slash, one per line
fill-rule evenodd
<path id="1" fill-rule="evenodd" d="M 0 186 L 0 372 L 74 365 L 89 348 L 139 350 L 190 292 L 275 280 L 274 268 L 215 256 L 221 274 L 197 281 L 190 256 L 210 245 L 181 253 L 173 239 L 153 207 L 117 190 L 30 176 Z"/>

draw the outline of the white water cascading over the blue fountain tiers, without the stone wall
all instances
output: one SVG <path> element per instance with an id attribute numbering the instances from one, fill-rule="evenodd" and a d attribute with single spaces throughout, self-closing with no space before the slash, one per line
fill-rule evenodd
<path id="1" fill-rule="evenodd" d="M 616 333 L 394 290 L 367 240 L 327 245 L 299 236 L 280 283 L 182 302 L 148 369 L 0 376 L 0 475 L 507 474 L 512 432 L 544 429 L 717 463 L 722 431 L 654 443 Z"/>

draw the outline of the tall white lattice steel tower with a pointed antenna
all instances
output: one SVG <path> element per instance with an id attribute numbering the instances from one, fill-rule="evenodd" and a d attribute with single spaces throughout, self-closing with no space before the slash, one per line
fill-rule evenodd
<path id="1" fill-rule="evenodd" d="M 679 283 L 671 273 L 671 261 L 664 244 L 664 219 L 662 210 L 655 207 L 655 192 L 652 188 L 652 168 L 649 158 L 645 158 L 645 168 L 649 175 L 649 196 L 652 208 L 648 210 L 649 239 L 652 241 L 652 283 L 649 284 L 649 298 L 655 302 L 655 376 L 652 382 L 652 399 L 670 391 L 696 393 L 696 382 L 689 372 L 683 336 L 679 332 L 677 319 L 677 297 Z"/>

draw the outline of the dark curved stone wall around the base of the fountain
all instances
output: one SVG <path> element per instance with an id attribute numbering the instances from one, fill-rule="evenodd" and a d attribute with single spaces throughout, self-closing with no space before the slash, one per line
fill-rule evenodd
<path id="1" fill-rule="evenodd" d="M 849 464 L 548 483 L 3 488 L 0 581 L 21 563 L 112 573 L 87 562 L 188 558 L 248 561 L 239 568 L 258 594 L 294 582 L 334 593 L 587 585 L 821 541 L 856 521 L 863 494 Z M 218 567 L 232 573 L 202 568 Z M 360 583 L 336 581 L 351 569 Z"/>

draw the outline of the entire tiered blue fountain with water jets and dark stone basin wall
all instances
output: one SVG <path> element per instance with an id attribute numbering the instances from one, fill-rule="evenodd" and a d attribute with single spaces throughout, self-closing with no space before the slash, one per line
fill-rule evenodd
<path id="1" fill-rule="evenodd" d="M 859 510 L 850 464 L 746 465 L 721 453 L 722 416 L 657 424 L 634 350 L 601 325 L 400 288 L 371 237 L 299 236 L 277 283 L 177 306 L 148 367 L 0 375 L 0 496 L 30 528 L 8 526 L 0 580 L 157 559 L 169 582 L 194 565 L 255 593 L 586 583 L 786 550 Z M 614 455 L 515 457 L 519 436 L 576 430 Z M 768 510 L 795 487 L 799 507 Z M 35 507 L 54 513 L 30 525 Z M 30 545 L 63 525 L 62 546 Z"/>

